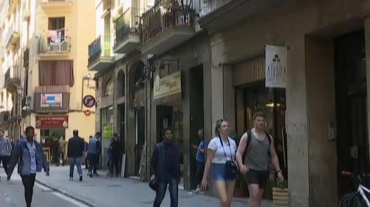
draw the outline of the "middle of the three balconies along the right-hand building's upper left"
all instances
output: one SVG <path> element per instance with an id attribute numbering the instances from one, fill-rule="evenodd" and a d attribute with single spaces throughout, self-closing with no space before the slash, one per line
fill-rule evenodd
<path id="1" fill-rule="evenodd" d="M 139 8 L 128 8 L 114 21 L 114 53 L 128 54 L 140 45 L 139 22 L 143 11 Z"/>

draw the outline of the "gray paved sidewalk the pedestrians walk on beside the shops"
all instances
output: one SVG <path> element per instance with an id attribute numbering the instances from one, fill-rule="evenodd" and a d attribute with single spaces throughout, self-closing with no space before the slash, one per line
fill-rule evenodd
<path id="1" fill-rule="evenodd" d="M 106 178 L 105 173 L 98 171 L 100 177 L 90 178 L 87 170 L 83 170 L 83 182 L 78 181 L 77 169 L 74 170 L 74 180 L 68 180 L 69 166 L 51 167 L 50 177 L 45 173 L 38 173 L 36 181 L 40 184 L 57 190 L 76 200 L 82 201 L 94 207 L 152 207 L 155 192 L 148 183 L 139 182 L 129 178 Z M 218 206 L 219 201 L 215 197 L 202 194 L 193 194 L 179 190 L 179 207 L 193 206 Z M 162 206 L 169 206 L 169 194 L 166 193 Z M 234 200 L 232 207 L 246 207 L 245 200 Z M 269 201 L 263 203 L 263 207 L 271 207 Z"/>

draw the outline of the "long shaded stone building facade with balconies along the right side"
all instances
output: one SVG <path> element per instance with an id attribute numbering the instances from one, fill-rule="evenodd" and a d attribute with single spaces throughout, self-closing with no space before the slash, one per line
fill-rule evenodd
<path id="1" fill-rule="evenodd" d="M 98 82 L 95 127 L 103 152 L 118 132 L 125 176 L 148 179 L 152 149 L 163 128 L 172 127 L 190 190 L 196 132 L 204 128 L 207 142 L 216 121 L 228 118 L 238 141 L 253 127 L 253 113 L 263 110 L 288 181 L 289 206 L 336 206 L 348 187 L 339 182 L 340 172 L 370 171 L 369 6 L 344 0 L 95 1 L 99 27 L 88 69 Z M 269 45 L 287 48 L 285 87 L 266 87 Z"/>

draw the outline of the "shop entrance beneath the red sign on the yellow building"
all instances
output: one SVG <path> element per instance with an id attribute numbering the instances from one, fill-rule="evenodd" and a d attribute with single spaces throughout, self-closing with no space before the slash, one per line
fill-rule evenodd
<path id="1" fill-rule="evenodd" d="M 50 152 L 50 163 L 57 164 L 59 162 L 57 155 L 59 149 L 58 139 L 63 137 L 65 140 L 65 129 L 44 129 L 40 130 L 41 146 L 45 151 Z M 67 151 L 67 146 L 65 146 Z"/>

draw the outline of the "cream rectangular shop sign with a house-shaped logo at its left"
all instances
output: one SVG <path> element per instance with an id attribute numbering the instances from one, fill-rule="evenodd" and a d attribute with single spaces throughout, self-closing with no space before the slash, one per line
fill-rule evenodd
<path id="1" fill-rule="evenodd" d="M 181 94 L 181 71 L 165 77 L 155 77 L 154 99 L 159 99 L 174 94 Z"/>

